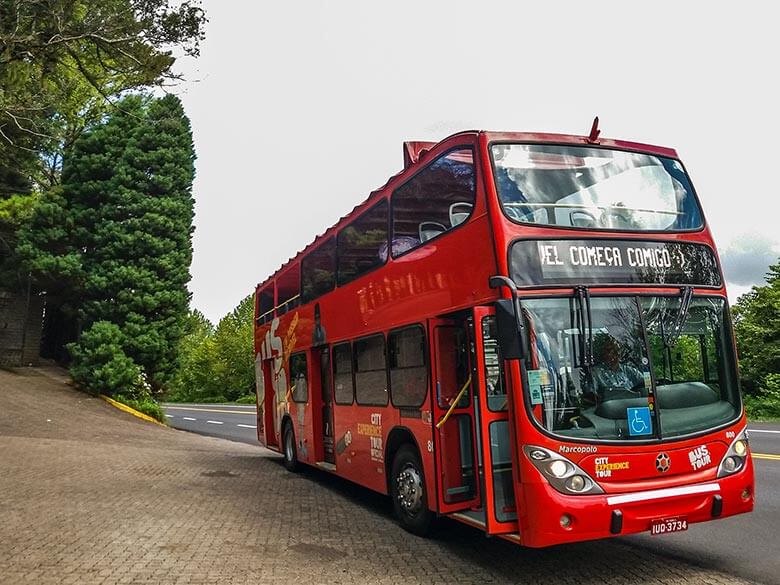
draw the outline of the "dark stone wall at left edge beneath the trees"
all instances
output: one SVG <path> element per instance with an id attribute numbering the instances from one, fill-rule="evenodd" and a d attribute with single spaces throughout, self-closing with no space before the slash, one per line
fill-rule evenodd
<path id="1" fill-rule="evenodd" d="M 43 300 L 43 296 L 33 295 L 28 315 L 25 295 L 0 290 L 0 366 L 38 365 Z"/>

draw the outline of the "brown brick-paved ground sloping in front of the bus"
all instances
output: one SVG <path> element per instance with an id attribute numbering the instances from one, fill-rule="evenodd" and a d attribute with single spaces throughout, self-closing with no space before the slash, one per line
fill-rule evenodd
<path id="1" fill-rule="evenodd" d="M 0 371 L 0 583 L 745 583 L 616 541 L 415 538 L 384 498 L 55 378 Z"/>

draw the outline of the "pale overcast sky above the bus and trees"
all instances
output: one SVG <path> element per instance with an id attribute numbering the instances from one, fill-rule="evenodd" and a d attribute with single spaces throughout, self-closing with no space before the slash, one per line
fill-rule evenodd
<path id="1" fill-rule="evenodd" d="M 217 321 L 402 167 L 468 129 L 675 148 L 729 296 L 780 255 L 772 3 L 204 0 L 193 306 Z"/>

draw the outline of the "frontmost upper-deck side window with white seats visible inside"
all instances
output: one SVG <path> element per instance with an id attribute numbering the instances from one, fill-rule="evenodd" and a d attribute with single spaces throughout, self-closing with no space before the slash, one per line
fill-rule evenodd
<path id="1" fill-rule="evenodd" d="M 392 195 L 393 258 L 466 222 L 476 192 L 471 148 L 440 156 L 396 189 Z"/>

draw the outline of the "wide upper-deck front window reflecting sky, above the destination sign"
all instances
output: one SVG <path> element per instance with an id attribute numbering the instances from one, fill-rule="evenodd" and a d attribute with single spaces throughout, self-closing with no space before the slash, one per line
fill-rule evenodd
<path id="1" fill-rule="evenodd" d="M 702 227 L 679 161 L 544 144 L 494 144 L 491 151 L 501 206 L 518 223 L 620 231 Z"/>

